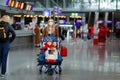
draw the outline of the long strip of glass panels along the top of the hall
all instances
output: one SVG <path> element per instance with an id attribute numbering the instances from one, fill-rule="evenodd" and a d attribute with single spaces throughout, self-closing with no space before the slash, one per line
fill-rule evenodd
<path id="1" fill-rule="evenodd" d="M 82 11 L 120 9 L 120 0 L 42 0 L 39 2 L 45 8 L 54 8 L 55 6 L 58 6 L 65 9 L 79 9 Z"/>

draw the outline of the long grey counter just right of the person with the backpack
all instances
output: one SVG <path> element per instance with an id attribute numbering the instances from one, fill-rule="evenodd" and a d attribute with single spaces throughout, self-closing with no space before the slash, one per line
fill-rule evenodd
<path id="1" fill-rule="evenodd" d="M 31 30 L 16 30 L 16 38 L 11 43 L 11 48 L 26 48 L 34 46 L 34 34 Z"/>

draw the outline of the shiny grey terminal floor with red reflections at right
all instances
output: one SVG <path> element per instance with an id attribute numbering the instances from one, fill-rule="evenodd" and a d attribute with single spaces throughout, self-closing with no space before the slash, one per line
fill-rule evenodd
<path id="1" fill-rule="evenodd" d="M 62 74 L 39 74 L 36 54 L 39 48 L 11 50 L 6 78 L 0 80 L 120 80 L 120 40 L 93 45 L 91 40 L 65 40 L 68 56 Z"/>

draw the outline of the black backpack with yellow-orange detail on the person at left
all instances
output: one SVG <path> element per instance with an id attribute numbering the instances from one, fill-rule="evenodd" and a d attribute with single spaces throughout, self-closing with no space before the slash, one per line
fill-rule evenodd
<path id="1" fill-rule="evenodd" d="M 3 23 L 0 23 L 0 42 L 5 42 L 7 40 L 7 31 Z"/>

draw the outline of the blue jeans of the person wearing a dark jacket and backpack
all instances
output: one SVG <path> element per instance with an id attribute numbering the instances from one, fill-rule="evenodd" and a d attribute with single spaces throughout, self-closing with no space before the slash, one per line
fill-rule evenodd
<path id="1" fill-rule="evenodd" d="M 10 50 L 10 43 L 0 43 L 0 67 L 1 67 L 1 74 L 6 73 L 7 68 L 7 57 L 8 52 Z"/>

